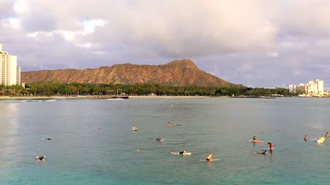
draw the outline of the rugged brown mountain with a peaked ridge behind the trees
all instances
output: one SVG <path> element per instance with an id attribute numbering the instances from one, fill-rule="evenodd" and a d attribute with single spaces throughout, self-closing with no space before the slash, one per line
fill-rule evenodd
<path id="1" fill-rule="evenodd" d="M 58 69 L 21 73 L 21 82 L 50 82 L 64 84 L 169 84 L 176 86 L 236 86 L 198 69 L 192 60 L 174 60 L 162 65 L 115 64 L 98 69 Z"/>

